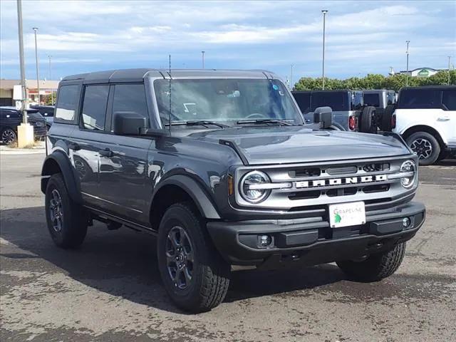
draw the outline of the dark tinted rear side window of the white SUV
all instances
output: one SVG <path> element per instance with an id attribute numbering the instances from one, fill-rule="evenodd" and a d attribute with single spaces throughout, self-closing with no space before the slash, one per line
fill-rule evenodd
<path id="1" fill-rule="evenodd" d="M 440 89 L 405 89 L 400 90 L 398 108 L 441 108 Z"/>

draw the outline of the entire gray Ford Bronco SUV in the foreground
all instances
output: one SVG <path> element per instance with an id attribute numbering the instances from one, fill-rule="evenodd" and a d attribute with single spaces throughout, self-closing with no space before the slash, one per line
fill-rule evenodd
<path id="1" fill-rule="evenodd" d="M 268 71 L 133 69 L 61 81 L 41 175 L 53 241 L 98 220 L 157 236 L 172 301 L 220 304 L 232 265 L 398 269 L 425 220 L 417 157 L 394 133 L 305 125 Z"/>

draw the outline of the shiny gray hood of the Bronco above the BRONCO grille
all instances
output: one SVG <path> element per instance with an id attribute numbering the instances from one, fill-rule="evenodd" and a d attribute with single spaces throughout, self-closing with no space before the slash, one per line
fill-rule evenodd
<path id="1" fill-rule="evenodd" d="M 197 140 L 229 140 L 249 165 L 285 164 L 408 155 L 403 142 L 393 136 L 311 130 L 295 127 L 245 127 L 199 131 L 187 135 Z"/>

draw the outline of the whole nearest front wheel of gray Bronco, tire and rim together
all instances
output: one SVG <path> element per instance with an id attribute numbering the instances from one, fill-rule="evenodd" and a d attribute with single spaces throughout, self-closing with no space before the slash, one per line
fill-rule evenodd
<path id="1" fill-rule="evenodd" d="M 202 312 L 222 303 L 230 266 L 214 248 L 204 220 L 190 203 L 173 204 L 160 222 L 157 239 L 160 275 L 181 309 Z"/>

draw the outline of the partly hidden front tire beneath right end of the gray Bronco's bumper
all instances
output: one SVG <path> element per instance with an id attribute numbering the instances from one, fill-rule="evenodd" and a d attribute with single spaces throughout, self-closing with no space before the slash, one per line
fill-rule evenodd
<path id="1" fill-rule="evenodd" d="M 393 274 L 404 259 L 405 242 L 395 245 L 389 251 L 372 254 L 363 261 L 338 261 L 337 266 L 353 280 L 379 281 Z"/>

